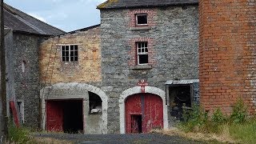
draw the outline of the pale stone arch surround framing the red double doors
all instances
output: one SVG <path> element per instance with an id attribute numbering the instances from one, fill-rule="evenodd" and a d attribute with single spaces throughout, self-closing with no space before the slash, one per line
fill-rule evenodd
<path id="1" fill-rule="evenodd" d="M 119 98 L 119 107 L 120 107 L 120 133 L 125 134 L 126 133 L 126 118 L 125 118 L 125 101 L 126 98 L 128 98 L 130 95 L 133 94 L 140 94 L 141 93 L 141 87 L 135 86 L 133 88 L 130 88 L 128 90 L 125 90 L 122 92 Z M 163 103 L 163 128 L 168 128 L 168 116 L 167 116 L 167 106 L 166 106 L 166 93 L 165 91 L 158 89 L 157 87 L 153 86 L 146 86 L 145 93 L 149 94 L 156 94 L 159 97 L 162 98 Z"/>

